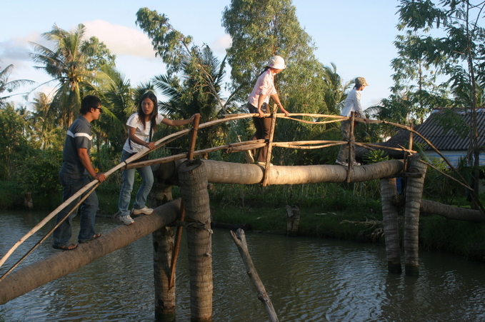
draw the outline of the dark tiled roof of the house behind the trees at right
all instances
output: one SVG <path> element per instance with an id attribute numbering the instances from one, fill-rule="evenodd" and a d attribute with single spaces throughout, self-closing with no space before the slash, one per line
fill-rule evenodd
<path id="1" fill-rule="evenodd" d="M 464 137 L 456 134 L 453 130 L 445 131 L 443 126 L 441 126 L 437 120 L 437 117 L 440 116 L 440 114 L 442 114 L 442 112 L 431 114 L 423 124 L 416 126 L 416 131 L 428 139 L 439 151 L 466 151 L 470 144 L 469 129 L 464 129 L 464 131 L 466 131 Z M 457 115 L 461 116 L 466 124 L 470 124 L 471 114 L 460 113 Z M 479 112 L 476 113 L 476 119 L 479 131 L 479 146 L 484 146 L 485 111 L 480 109 Z M 419 136 L 414 136 L 414 141 L 419 144 L 425 144 L 424 140 Z M 431 147 L 426 144 L 425 150 L 431 150 Z"/>

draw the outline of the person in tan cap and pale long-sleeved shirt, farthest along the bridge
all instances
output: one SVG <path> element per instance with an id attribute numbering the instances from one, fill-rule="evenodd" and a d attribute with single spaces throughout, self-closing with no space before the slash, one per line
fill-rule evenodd
<path id="1" fill-rule="evenodd" d="M 369 119 L 366 119 L 364 116 L 364 110 L 362 110 L 361 106 L 361 91 L 364 90 L 366 86 L 369 86 L 367 84 L 366 79 L 364 77 L 357 77 L 355 79 L 355 86 L 354 88 L 349 92 L 347 95 L 347 98 L 344 103 L 344 109 L 342 109 L 342 116 L 351 116 L 351 112 L 356 112 L 356 117 L 363 118 L 366 123 L 369 123 Z M 346 121 L 341 121 L 341 131 L 342 131 L 342 136 L 343 136 L 343 141 L 349 141 L 350 140 L 350 127 L 351 127 L 351 121 L 346 120 Z M 354 146 L 352 146 L 351 149 L 351 154 L 353 156 L 354 160 L 354 166 L 360 166 L 361 163 L 355 161 L 355 150 Z M 339 151 L 339 156 L 337 156 L 337 159 L 335 161 L 337 164 L 341 164 L 342 166 L 348 166 L 349 165 L 349 145 L 344 144 L 341 146 L 340 151 Z"/>

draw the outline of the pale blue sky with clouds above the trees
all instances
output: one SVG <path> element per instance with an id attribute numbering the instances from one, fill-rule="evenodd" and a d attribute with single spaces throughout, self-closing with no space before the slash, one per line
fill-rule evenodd
<path id="1" fill-rule="evenodd" d="M 221 26 L 222 11 L 230 0 L 158 1 L 4 1 L 0 19 L 0 68 L 14 64 L 9 80 L 31 79 L 39 84 L 49 76 L 32 68 L 29 41 L 49 46 L 41 34 L 56 24 L 72 30 L 84 24 L 87 36 L 96 36 L 117 56 L 116 66 L 135 85 L 163 74 L 164 64 L 156 58 L 149 38 L 136 26 L 136 11 L 148 7 L 166 14 L 171 24 L 196 44 L 209 44 L 220 57 L 230 44 Z M 337 72 L 349 81 L 364 76 L 370 84 L 362 93 L 364 109 L 389 96 L 392 86 L 391 59 L 396 57 L 393 41 L 397 0 L 294 0 L 299 23 L 318 47 L 322 64 L 336 64 Z M 26 90 L 26 89 L 24 89 Z M 48 92 L 49 87 L 44 86 Z M 30 100 L 32 96 L 30 97 Z M 17 96 L 15 101 L 26 104 Z"/>

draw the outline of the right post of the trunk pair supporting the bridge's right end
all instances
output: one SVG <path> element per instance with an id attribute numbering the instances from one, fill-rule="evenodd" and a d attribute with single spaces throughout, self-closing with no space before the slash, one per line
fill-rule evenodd
<path id="1" fill-rule="evenodd" d="M 419 275 L 419 207 L 423 193 L 426 164 L 421 156 L 409 158 L 408 172 L 421 173 L 421 178 L 408 178 L 406 186 L 406 208 L 404 210 L 404 266 L 406 275 Z"/>

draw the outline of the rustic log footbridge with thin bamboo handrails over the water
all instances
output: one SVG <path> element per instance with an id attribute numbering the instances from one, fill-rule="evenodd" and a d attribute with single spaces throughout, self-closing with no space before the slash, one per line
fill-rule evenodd
<path id="1" fill-rule="evenodd" d="M 121 225 L 111 231 L 103 232 L 101 237 L 96 238 L 94 241 L 79 244 L 75 251 L 55 253 L 44 260 L 32 263 L 14 271 L 14 268 L 19 266 L 19 263 L 29 255 L 31 251 L 34 251 L 37 246 L 45 241 L 52 231 L 54 231 L 56 228 L 56 226 L 54 226 L 46 236 L 41 238 L 29 253 L 0 277 L 0 304 L 7 303 L 34 288 L 49 283 L 49 281 L 65 276 L 66 274 L 95 261 L 101 256 L 105 256 L 108 253 L 123 248 L 129 243 L 152 233 L 154 241 L 155 317 L 159 321 L 174 321 L 174 270 L 180 245 L 181 230 L 182 227 L 186 227 L 187 241 L 189 245 L 189 266 L 191 267 L 191 321 L 211 321 L 213 288 L 211 271 L 211 217 L 209 209 L 209 193 L 207 191 L 208 183 L 262 184 L 263 186 L 269 186 L 319 182 L 362 182 L 380 179 L 388 270 L 392 273 L 401 273 L 401 251 L 399 246 L 398 226 L 399 206 L 393 201 L 393 198 L 397 196 L 396 178 L 405 177 L 407 183 L 405 193 L 406 198 L 404 201 L 404 220 L 406 221 L 403 236 L 404 268 L 406 275 L 411 276 L 419 275 L 418 232 L 420 208 L 421 211 L 425 208 L 428 212 L 434 212 L 434 210 L 439 208 L 440 213 L 437 214 L 445 216 L 446 218 L 466 221 L 485 221 L 483 208 L 481 208 L 481 211 L 474 211 L 441 204 L 440 205 L 443 207 L 436 207 L 431 201 L 421 200 L 426 168 L 431 165 L 421 161 L 419 155 L 417 155 L 415 151 L 412 151 L 413 135 L 420 136 L 431 147 L 433 147 L 433 145 L 426 138 L 421 136 L 421 134 L 414 131 L 414 129 L 400 124 L 371 120 L 371 123 L 391 124 L 409 131 L 409 149 L 401 149 L 405 153 L 405 158 L 403 160 L 382 161 L 364 166 L 353 166 L 353 160 L 350 159 L 348 167 L 341 165 L 270 166 L 271 149 L 276 146 L 287 149 L 324 149 L 329 146 L 349 144 L 351 148 L 353 146 L 366 146 L 371 149 L 393 149 L 374 144 L 362 144 L 356 142 L 353 135 L 353 129 L 349 141 L 273 141 L 277 118 L 292 119 L 311 124 L 328 124 L 349 119 L 345 116 L 323 114 L 290 114 L 289 117 L 284 116 L 284 114 L 266 114 L 266 116 L 271 116 L 271 131 L 268 140 L 245 141 L 194 151 L 196 135 L 199 129 L 204 129 L 226 121 L 251 118 L 253 116 L 256 116 L 256 114 L 234 114 L 226 116 L 224 119 L 210 121 L 200 125 L 199 117 L 197 117 L 194 120 L 191 129 L 179 131 L 156 141 L 156 149 L 158 149 L 161 146 L 165 146 L 169 142 L 174 141 L 174 139 L 190 134 L 190 147 L 187 154 L 178 154 L 176 156 L 133 163 L 133 161 L 141 158 L 141 156 L 153 151 L 147 148 L 107 171 L 105 174 L 106 176 L 109 176 L 115 171 L 123 170 L 125 168 L 159 164 L 162 169 L 162 174 L 159 175 L 159 179 L 163 181 L 164 178 L 175 176 L 181 186 L 181 198 L 168 201 L 163 205 L 154 208 L 154 213 L 151 216 L 140 216 L 136 218 L 135 225 Z M 323 121 L 304 121 L 302 119 L 294 119 L 294 116 L 309 116 L 311 119 L 323 119 Z M 355 118 L 354 115 L 352 115 L 350 119 L 357 122 L 364 121 L 363 119 Z M 354 122 L 351 122 L 351 124 L 354 124 Z M 228 152 L 241 151 L 247 153 L 247 151 L 258 149 L 265 145 L 268 146 L 266 166 L 259 166 L 254 163 L 229 163 L 224 161 L 194 159 L 194 156 L 206 155 L 212 151 L 226 150 Z M 450 168 L 454 169 L 451 163 L 449 163 L 439 151 L 437 152 L 449 164 Z M 463 179 L 460 183 L 469 188 L 474 198 L 476 198 L 476 201 L 478 201 L 478 198 L 473 194 L 473 191 L 466 181 Z M 84 193 L 81 201 L 72 208 L 71 212 L 74 211 L 74 209 L 84 200 L 83 198 L 86 198 L 86 196 L 97 186 L 99 186 L 99 182 L 96 180 L 92 181 L 76 193 L 76 195 L 56 208 L 56 210 L 50 213 L 49 216 L 46 216 L 43 221 L 29 231 L 26 236 L 21 238 L 19 242 L 17 242 L 16 245 L 14 245 L 3 258 L 1 258 L 0 266 L 5 263 L 11 253 L 13 253 L 14 250 L 26 240 L 26 238 L 32 236 L 39 230 L 39 228 L 41 228 L 41 226 L 44 226 L 51 218 L 54 218 L 61 209 L 69 206 L 72 201 L 79 198 L 79 196 L 82 196 Z M 66 217 L 69 216 L 70 213 L 68 213 Z M 176 226 L 176 233 L 174 232 L 174 226 Z M 232 232 L 231 234 L 243 256 L 246 270 L 258 290 L 259 299 L 266 306 L 266 311 L 268 311 L 271 321 L 278 321 L 274 311 L 271 311 L 271 301 L 267 297 L 266 291 L 264 291 L 264 286 L 262 286 L 261 281 L 259 281 L 259 278 L 257 277 L 257 273 L 249 258 L 249 253 L 247 253 L 247 248 L 244 246 L 244 232 L 241 233 L 241 231 L 238 231 L 237 236 Z"/>

